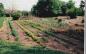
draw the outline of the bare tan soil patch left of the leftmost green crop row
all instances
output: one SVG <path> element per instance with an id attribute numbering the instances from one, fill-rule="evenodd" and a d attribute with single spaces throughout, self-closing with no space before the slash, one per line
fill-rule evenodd
<path id="1" fill-rule="evenodd" d="M 2 30 L 0 31 L 0 39 L 15 41 L 15 37 L 11 35 L 11 30 L 7 23 L 7 20 L 4 21 Z"/>

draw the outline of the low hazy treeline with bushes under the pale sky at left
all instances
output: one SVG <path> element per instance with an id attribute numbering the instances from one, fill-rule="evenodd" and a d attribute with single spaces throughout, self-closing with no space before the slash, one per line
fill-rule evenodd
<path id="1" fill-rule="evenodd" d="M 5 9 L 4 5 L 0 3 L 0 17 L 13 17 L 13 20 L 17 20 L 20 17 L 31 15 L 28 11 L 10 10 Z"/>

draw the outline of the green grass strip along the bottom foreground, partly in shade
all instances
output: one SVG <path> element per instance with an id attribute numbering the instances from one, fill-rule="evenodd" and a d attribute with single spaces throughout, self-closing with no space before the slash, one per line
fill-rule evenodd
<path id="1" fill-rule="evenodd" d="M 19 43 L 0 40 L 0 54 L 65 54 L 42 46 L 24 47 Z"/>

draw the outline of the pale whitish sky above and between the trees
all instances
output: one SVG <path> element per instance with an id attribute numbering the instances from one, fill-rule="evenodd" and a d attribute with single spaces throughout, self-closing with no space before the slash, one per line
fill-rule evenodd
<path id="1" fill-rule="evenodd" d="M 62 0 L 68 1 L 68 0 Z M 78 7 L 81 0 L 73 0 Z M 0 0 L 4 4 L 5 9 L 17 9 L 30 11 L 33 5 L 37 4 L 38 0 Z"/>

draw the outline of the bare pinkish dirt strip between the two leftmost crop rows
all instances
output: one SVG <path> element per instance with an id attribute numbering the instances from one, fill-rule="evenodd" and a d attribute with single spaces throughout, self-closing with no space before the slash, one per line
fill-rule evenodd
<path id="1" fill-rule="evenodd" d="M 15 27 L 15 29 L 17 30 L 17 32 L 19 34 L 19 42 L 21 44 L 26 45 L 26 46 L 36 46 L 36 45 L 38 45 L 30 37 L 27 38 L 24 31 L 17 25 L 17 23 L 15 21 L 13 22 L 13 26 Z"/>

